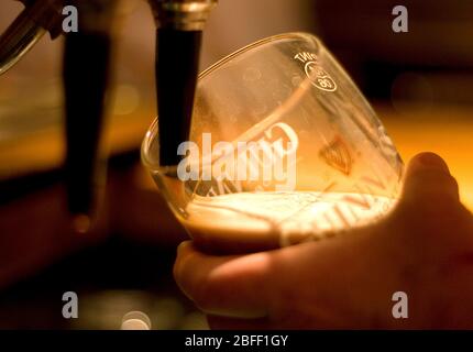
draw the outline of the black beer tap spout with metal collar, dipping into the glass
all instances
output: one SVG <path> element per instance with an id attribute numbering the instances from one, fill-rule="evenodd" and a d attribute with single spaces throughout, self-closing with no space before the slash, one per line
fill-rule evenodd
<path id="1" fill-rule="evenodd" d="M 175 170 L 187 141 L 198 76 L 201 35 L 217 0 L 148 0 L 156 20 L 156 92 L 160 165 Z"/>

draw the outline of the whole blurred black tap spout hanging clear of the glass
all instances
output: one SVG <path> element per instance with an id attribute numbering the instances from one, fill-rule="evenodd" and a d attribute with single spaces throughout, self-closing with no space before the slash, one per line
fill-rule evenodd
<path id="1" fill-rule="evenodd" d="M 74 0 L 78 32 L 66 35 L 63 81 L 66 112 L 65 177 L 76 231 L 87 231 L 103 191 L 101 136 L 109 107 L 114 25 L 119 0 Z"/>

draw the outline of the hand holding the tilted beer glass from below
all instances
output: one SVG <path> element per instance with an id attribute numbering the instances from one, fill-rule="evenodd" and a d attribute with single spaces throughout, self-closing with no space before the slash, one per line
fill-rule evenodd
<path id="1" fill-rule="evenodd" d="M 211 328 L 473 328 L 473 218 L 446 163 L 424 153 L 375 224 L 238 256 L 185 242 L 174 274 Z M 396 292 L 407 319 L 392 315 Z"/>

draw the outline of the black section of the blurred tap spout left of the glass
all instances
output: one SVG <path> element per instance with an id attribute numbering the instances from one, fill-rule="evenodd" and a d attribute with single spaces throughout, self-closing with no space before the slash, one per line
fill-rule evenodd
<path id="1" fill-rule="evenodd" d="M 64 54 L 66 183 L 73 215 L 94 212 L 105 179 L 100 136 L 109 85 L 111 38 L 102 33 L 70 33 Z"/>

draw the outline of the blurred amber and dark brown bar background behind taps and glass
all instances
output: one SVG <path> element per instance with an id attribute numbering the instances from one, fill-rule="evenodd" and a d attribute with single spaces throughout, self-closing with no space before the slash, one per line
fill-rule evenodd
<path id="1" fill-rule="evenodd" d="M 408 9 L 408 33 L 392 10 Z M 0 3 L 0 31 L 20 13 Z M 0 328 L 118 329 L 133 310 L 154 329 L 206 329 L 175 286 L 176 245 L 187 238 L 140 163 L 156 111 L 154 24 L 128 0 L 117 38 L 113 105 L 106 128 L 109 172 L 97 228 L 67 222 L 63 40 L 46 35 L 0 77 Z M 201 68 L 268 35 L 322 38 L 374 106 L 404 161 L 443 156 L 473 209 L 473 2 L 452 0 L 221 0 L 205 32 Z M 76 292 L 79 318 L 62 316 Z"/>

